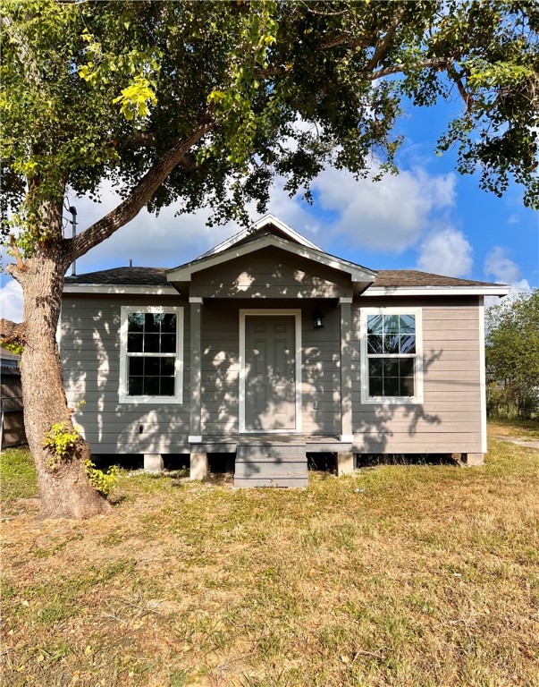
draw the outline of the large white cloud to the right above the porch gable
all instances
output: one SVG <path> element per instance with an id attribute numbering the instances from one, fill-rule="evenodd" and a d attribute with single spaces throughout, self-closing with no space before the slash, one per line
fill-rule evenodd
<path id="1" fill-rule="evenodd" d="M 370 250 L 400 253 L 432 227 L 434 213 L 455 201 L 455 175 L 433 176 L 417 167 L 379 182 L 356 180 L 333 168 L 313 182 L 322 207 L 337 212 L 333 229 Z"/>

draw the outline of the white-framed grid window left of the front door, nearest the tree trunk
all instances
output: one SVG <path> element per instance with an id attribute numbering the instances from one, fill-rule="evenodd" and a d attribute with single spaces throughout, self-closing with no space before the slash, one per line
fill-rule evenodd
<path id="1" fill-rule="evenodd" d="M 121 403 L 181 403 L 182 315 L 182 308 L 122 306 Z"/>

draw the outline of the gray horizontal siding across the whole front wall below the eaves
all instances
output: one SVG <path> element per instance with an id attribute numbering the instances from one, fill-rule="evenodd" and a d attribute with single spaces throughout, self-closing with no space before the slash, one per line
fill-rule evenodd
<path id="1" fill-rule="evenodd" d="M 324 268 L 325 269 L 325 268 Z M 223 276 L 223 275 L 222 275 Z M 122 305 L 183 307 L 183 403 L 119 403 Z M 421 405 L 361 404 L 361 307 L 422 307 L 424 396 Z M 320 308 L 324 328 L 313 328 Z M 302 431 L 341 434 L 341 311 L 336 299 L 205 298 L 201 310 L 201 432 L 230 437 L 239 427 L 240 309 L 300 309 Z M 350 337 L 356 453 L 480 453 L 481 389 L 478 299 L 359 298 Z M 189 302 L 180 296 L 66 294 L 61 356 L 68 402 L 95 453 L 180 454 L 189 446 Z M 317 407 L 315 408 L 315 405 Z"/>

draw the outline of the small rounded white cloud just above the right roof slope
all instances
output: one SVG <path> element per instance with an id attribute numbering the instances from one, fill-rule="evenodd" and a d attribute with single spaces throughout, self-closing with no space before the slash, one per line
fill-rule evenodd
<path id="1" fill-rule="evenodd" d="M 474 262 L 473 249 L 464 233 L 452 227 L 431 233 L 419 248 L 417 267 L 447 276 L 468 276 Z"/>

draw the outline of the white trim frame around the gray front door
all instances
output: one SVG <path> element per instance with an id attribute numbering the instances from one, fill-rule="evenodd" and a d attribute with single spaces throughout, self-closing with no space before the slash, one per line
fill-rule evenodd
<path id="1" fill-rule="evenodd" d="M 293 315 L 295 318 L 295 339 L 296 339 L 296 428 L 295 429 L 274 429 L 270 431 L 253 431 L 245 427 L 245 404 L 246 404 L 246 375 L 245 375 L 245 318 L 248 315 L 271 316 L 271 315 Z M 295 308 L 283 309 L 240 309 L 240 379 L 239 379 L 239 431 L 240 434 L 297 434 L 302 428 L 302 408 L 301 408 L 301 310 Z"/>

